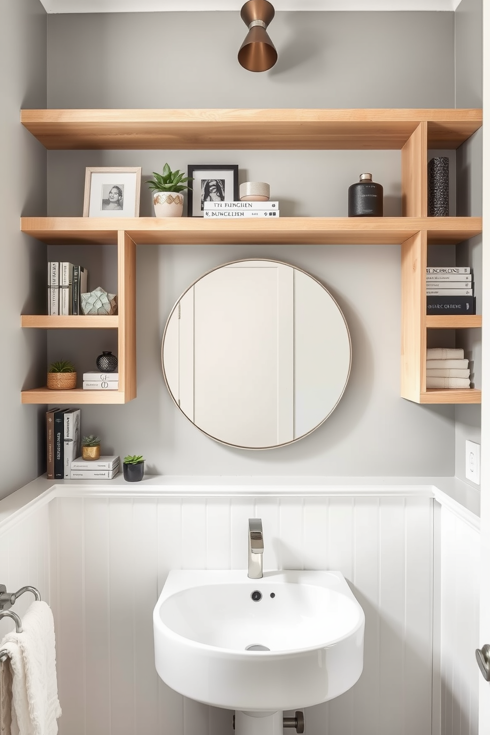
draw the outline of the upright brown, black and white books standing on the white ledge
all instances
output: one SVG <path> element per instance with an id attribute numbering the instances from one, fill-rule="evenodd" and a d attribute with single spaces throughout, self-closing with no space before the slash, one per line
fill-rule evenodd
<path id="1" fill-rule="evenodd" d="M 71 462 L 81 452 L 80 409 L 49 409 L 46 412 L 46 477 L 70 479 Z"/>

